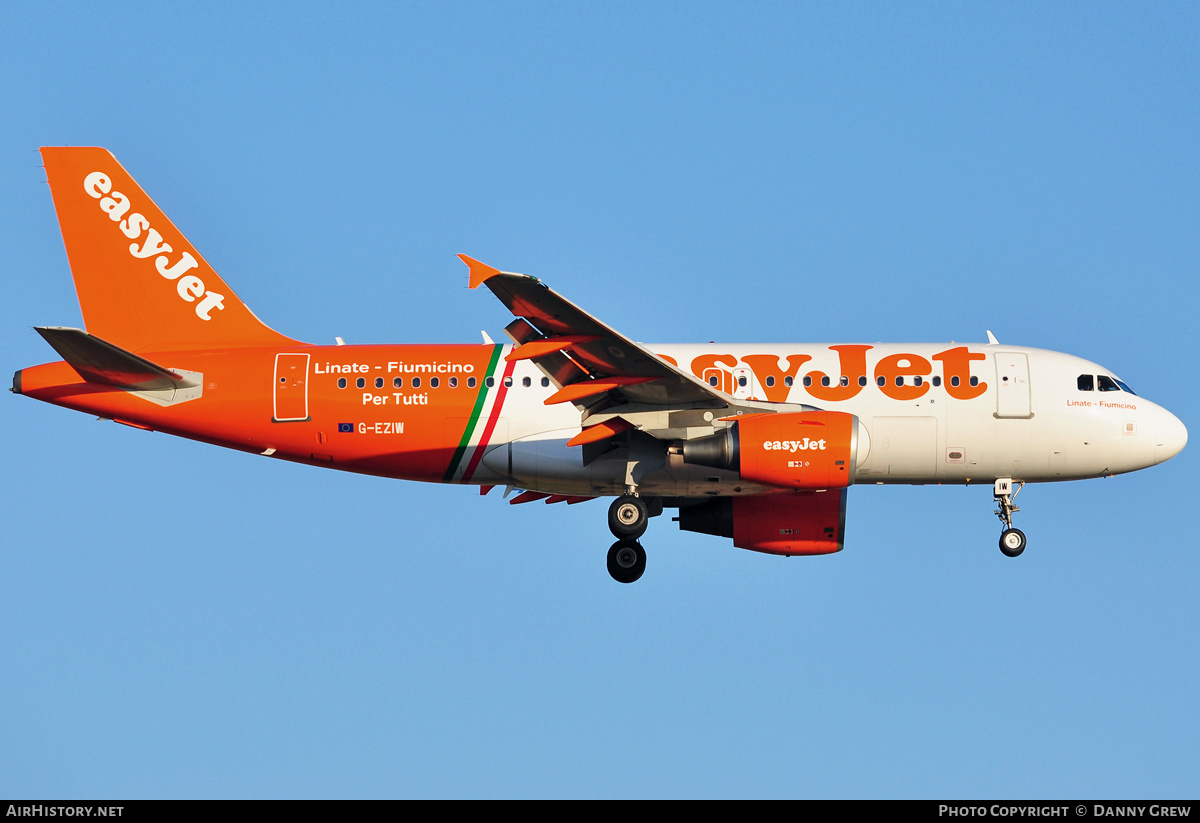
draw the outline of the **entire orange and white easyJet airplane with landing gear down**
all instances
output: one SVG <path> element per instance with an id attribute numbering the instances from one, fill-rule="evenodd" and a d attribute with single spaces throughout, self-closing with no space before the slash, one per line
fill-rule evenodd
<path id="1" fill-rule="evenodd" d="M 1000 547 L 1026 482 L 1154 465 L 1187 429 L 1112 371 L 1003 346 L 644 346 L 527 275 L 466 256 L 510 343 L 312 346 L 265 326 L 103 149 L 42 149 L 86 331 L 13 391 L 127 426 L 511 503 L 616 497 L 608 571 L 649 519 L 773 554 L 842 547 L 853 483 L 994 483 Z"/>

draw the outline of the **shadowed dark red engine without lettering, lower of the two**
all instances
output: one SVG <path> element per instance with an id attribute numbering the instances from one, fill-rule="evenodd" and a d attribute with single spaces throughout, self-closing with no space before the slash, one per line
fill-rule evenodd
<path id="1" fill-rule="evenodd" d="M 833 554 L 846 540 L 846 489 L 706 500 L 679 509 L 679 528 L 768 554 Z"/>

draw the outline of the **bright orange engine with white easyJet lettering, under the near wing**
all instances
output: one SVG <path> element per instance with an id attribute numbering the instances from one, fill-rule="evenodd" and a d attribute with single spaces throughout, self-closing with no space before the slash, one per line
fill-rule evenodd
<path id="1" fill-rule="evenodd" d="M 845 488 L 854 482 L 857 452 L 858 417 L 842 412 L 750 415 L 683 444 L 684 463 L 779 488 Z"/>

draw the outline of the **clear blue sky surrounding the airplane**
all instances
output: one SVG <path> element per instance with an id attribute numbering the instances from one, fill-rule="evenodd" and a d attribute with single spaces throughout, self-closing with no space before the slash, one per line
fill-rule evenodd
<path id="1" fill-rule="evenodd" d="M 1187 4 L 0 5 L 0 352 L 103 145 L 270 325 L 473 342 L 466 252 L 637 340 L 983 341 L 1195 432 Z M 0 795 L 1195 797 L 1195 444 L 854 488 L 785 560 L 0 398 Z"/>

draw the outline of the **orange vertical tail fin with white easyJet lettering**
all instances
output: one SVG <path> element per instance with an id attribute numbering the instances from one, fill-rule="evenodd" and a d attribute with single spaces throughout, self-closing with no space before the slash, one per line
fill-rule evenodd
<path id="1" fill-rule="evenodd" d="M 265 326 L 104 149 L 43 148 L 88 331 L 130 352 L 295 346 Z"/>

